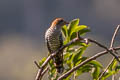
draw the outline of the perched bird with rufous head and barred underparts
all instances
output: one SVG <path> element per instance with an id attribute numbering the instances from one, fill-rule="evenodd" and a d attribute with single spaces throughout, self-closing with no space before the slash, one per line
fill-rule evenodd
<path id="1" fill-rule="evenodd" d="M 45 33 L 45 40 L 50 54 L 57 51 L 63 45 L 61 29 L 63 25 L 68 24 L 63 18 L 56 18 Z M 60 51 L 53 57 L 54 66 L 58 73 L 62 73 L 63 67 L 63 51 Z"/>

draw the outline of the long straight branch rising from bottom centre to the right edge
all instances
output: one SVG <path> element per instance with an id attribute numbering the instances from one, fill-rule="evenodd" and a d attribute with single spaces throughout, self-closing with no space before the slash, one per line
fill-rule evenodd
<path id="1" fill-rule="evenodd" d="M 115 47 L 114 50 L 119 50 L 120 47 Z M 109 51 L 112 51 L 113 49 L 109 49 Z M 102 56 L 102 55 L 105 55 L 107 54 L 108 51 L 102 51 L 102 52 L 99 52 L 97 53 L 96 55 L 86 59 L 85 61 L 83 61 L 82 63 L 80 63 L 79 65 L 73 67 L 71 70 L 69 70 L 68 72 L 64 73 L 63 75 L 61 75 L 57 80 L 63 80 L 64 78 L 68 77 L 72 72 L 76 71 L 77 69 L 79 69 L 81 66 L 83 66 L 84 64 L 92 61 L 92 60 L 95 60 L 96 58 Z"/>

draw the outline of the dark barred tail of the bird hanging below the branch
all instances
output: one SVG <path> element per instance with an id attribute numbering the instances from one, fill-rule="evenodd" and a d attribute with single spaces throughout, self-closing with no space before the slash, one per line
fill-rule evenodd
<path id="1" fill-rule="evenodd" d="M 63 73 L 63 71 L 64 71 L 63 54 L 62 53 L 59 52 L 53 59 L 54 60 L 54 65 L 55 65 L 58 73 Z"/>

